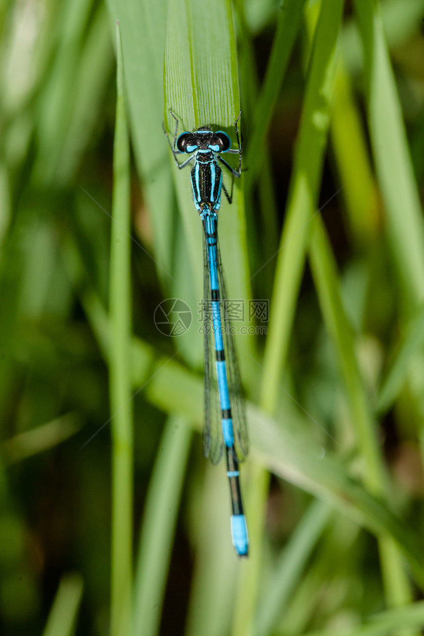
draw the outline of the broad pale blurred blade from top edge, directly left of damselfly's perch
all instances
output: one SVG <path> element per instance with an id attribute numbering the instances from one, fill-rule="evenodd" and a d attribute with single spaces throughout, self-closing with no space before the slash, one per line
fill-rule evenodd
<path id="1" fill-rule="evenodd" d="M 108 0 L 120 20 L 132 148 L 153 228 L 158 277 L 172 289 L 174 187 L 163 121 L 163 52 L 167 0 Z"/>

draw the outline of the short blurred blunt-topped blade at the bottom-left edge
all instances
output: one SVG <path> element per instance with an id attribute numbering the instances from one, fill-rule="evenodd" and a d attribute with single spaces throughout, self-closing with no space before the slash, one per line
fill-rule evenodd
<path id="1" fill-rule="evenodd" d="M 79 574 L 62 577 L 43 636 L 72 636 L 75 633 L 82 595 L 83 579 Z"/>

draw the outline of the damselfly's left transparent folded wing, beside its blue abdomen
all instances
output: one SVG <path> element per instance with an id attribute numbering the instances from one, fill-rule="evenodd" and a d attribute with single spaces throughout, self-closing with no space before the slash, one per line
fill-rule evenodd
<path id="1" fill-rule="evenodd" d="M 212 322 L 206 240 L 203 240 L 203 328 L 205 331 L 203 334 L 205 344 L 205 426 L 203 428 L 203 455 L 209 457 L 212 464 L 218 464 L 222 457 L 224 443 L 222 438 L 218 383 L 215 373 L 214 326 Z"/>

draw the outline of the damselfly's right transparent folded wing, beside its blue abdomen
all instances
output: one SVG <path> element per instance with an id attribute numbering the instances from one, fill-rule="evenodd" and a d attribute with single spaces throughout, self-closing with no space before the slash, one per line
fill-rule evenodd
<path id="1" fill-rule="evenodd" d="M 231 417 L 233 418 L 234 443 L 236 448 L 236 459 L 242 462 L 249 453 L 249 434 L 247 432 L 246 410 L 243 399 L 242 380 L 233 336 L 231 319 L 228 315 L 228 299 L 225 284 L 224 272 L 222 271 L 221 252 L 219 242 L 217 242 L 217 266 L 219 291 L 221 293 L 222 324 L 224 326 L 224 347 L 227 364 L 229 401 L 231 404 Z"/>

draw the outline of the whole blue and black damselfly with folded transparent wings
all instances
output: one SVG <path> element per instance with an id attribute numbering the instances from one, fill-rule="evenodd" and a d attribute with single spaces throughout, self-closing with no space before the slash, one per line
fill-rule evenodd
<path id="1" fill-rule="evenodd" d="M 191 186 L 196 210 L 203 223 L 203 265 L 204 298 L 203 319 L 205 339 L 205 427 L 203 429 L 203 453 L 212 464 L 217 464 L 225 448 L 227 475 L 231 492 L 231 536 L 236 553 L 247 556 L 249 540 L 243 513 L 242 495 L 238 464 L 249 451 L 249 439 L 245 408 L 242 398 L 240 372 L 238 370 L 233 329 L 226 307 L 226 286 L 222 273 L 221 253 L 217 235 L 218 211 L 221 206 L 221 192 L 228 202 L 233 198 L 234 179 L 231 194 L 222 183 L 224 166 L 233 177 L 242 174 L 242 144 L 235 121 L 238 149 L 231 148 L 231 139 L 226 132 L 213 132 L 210 126 L 197 128 L 194 132 L 183 132 L 177 138 L 178 120 L 175 120 L 174 144 L 170 142 L 164 129 L 175 163 L 179 169 L 194 163 L 191 169 Z M 229 165 L 221 153 L 238 155 L 238 169 Z M 177 155 L 190 155 L 179 163 Z M 212 332 L 214 343 L 212 343 Z M 212 362 L 215 352 L 215 372 Z"/>

